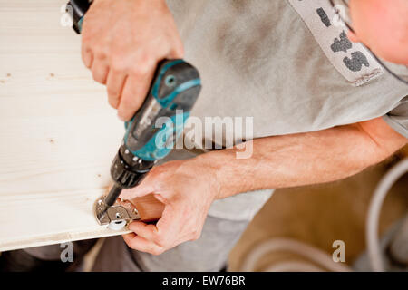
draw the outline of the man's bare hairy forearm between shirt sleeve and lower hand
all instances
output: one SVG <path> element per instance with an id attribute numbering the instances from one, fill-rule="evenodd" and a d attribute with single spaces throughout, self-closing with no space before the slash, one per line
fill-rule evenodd
<path id="1" fill-rule="evenodd" d="M 381 123 L 381 125 L 384 125 Z M 386 126 L 386 125 L 385 125 Z M 237 159 L 237 148 L 198 158 L 215 172 L 218 198 L 255 189 L 278 189 L 344 179 L 384 160 L 406 143 L 392 131 L 393 144 L 382 146 L 384 131 L 371 136 L 361 124 L 253 140 L 253 154 Z M 385 137 L 385 136 L 384 136 Z M 390 137 L 390 136 L 388 136 Z"/>

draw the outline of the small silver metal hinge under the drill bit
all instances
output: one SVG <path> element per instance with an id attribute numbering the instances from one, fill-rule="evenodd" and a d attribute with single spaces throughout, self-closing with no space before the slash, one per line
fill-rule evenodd
<path id="1" fill-rule="evenodd" d="M 131 222 L 131 220 L 141 219 L 137 208 L 129 200 L 117 199 L 111 208 L 108 208 L 105 215 L 99 219 L 98 214 L 102 211 L 105 197 L 98 198 L 94 204 L 95 218 L 101 226 L 119 230 Z"/>

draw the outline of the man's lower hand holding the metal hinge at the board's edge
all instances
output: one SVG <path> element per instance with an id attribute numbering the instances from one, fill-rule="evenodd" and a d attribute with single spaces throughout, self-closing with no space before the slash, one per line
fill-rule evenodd
<path id="1" fill-rule="evenodd" d="M 156 166 L 134 189 L 125 189 L 121 198 L 131 199 L 154 193 L 164 203 L 156 225 L 133 221 L 131 234 L 123 238 L 129 247 L 153 255 L 199 238 L 212 201 L 218 197 L 215 171 L 199 158 L 174 160 Z"/>

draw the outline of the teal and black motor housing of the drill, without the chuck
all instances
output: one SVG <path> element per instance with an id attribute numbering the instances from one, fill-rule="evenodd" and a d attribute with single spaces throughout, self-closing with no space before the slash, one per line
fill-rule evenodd
<path id="1" fill-rule="evenodd" d="M 170 153 L 199 97 L 201 81 L 183 60 L 160 63 L 151 90 L 131 121 L 125 123 L 124 145 L 141 160 L 160 160 Z"/>

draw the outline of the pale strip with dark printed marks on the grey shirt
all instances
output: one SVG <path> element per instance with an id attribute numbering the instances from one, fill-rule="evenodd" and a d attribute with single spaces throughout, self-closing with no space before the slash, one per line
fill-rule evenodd
<path id="1" fill-rule="evenodd" d="M 360 86 L 384 73 L 361 43 L 352 43 L 345 25 L 327 0 L 288 0 L 325 53 L 348 82 Z"/>

